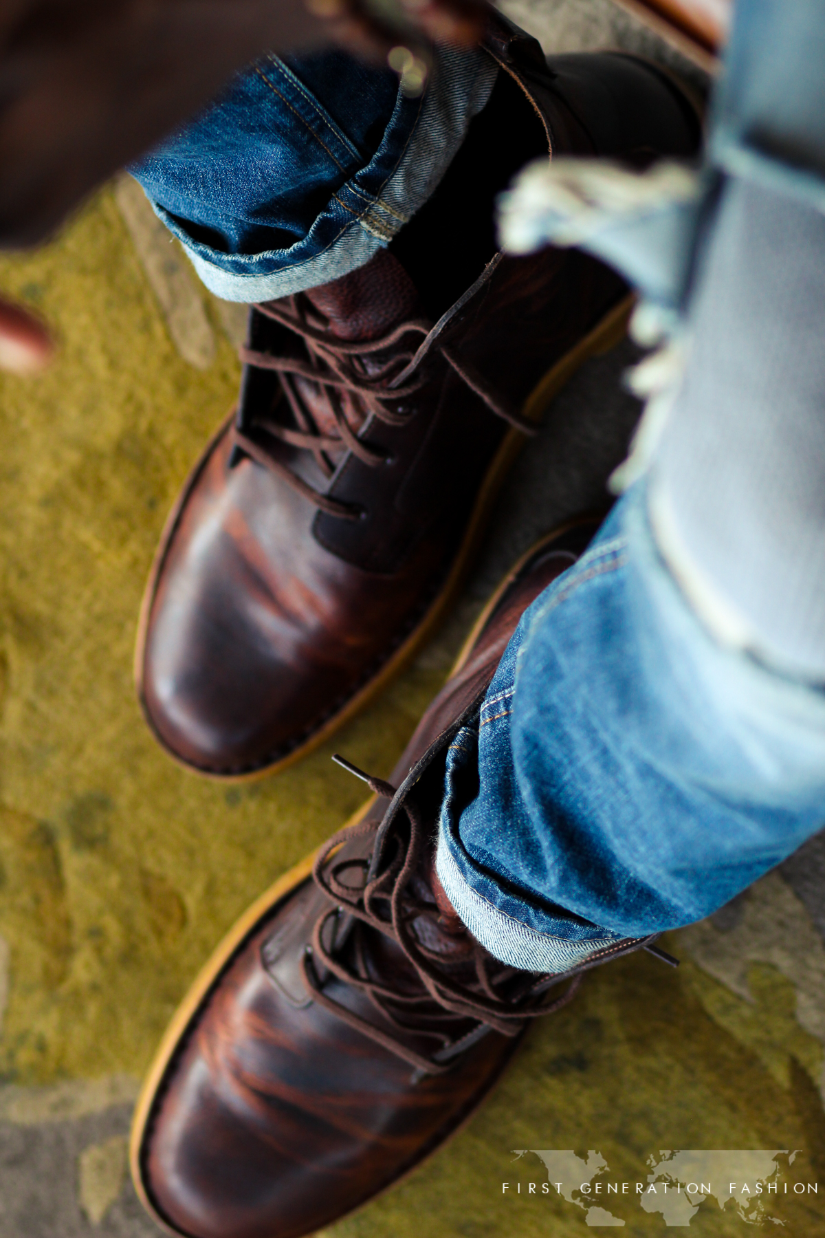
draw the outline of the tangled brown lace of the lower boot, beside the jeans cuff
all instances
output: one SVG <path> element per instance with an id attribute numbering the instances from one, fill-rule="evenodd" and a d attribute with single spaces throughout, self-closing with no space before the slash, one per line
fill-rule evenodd
<path id="1" fill-rule="evenodd" d="M 364 775 L 343 760 L 340 764 L 357 773 L 376 795 L 395 795 L 388 782 Z M 437 948 L 439 940 L 444 941 L 444 919 L 419 877 L 428 834 L 409 795 L 400 808 L 386 833 L 383 827 L 378 828 L 371 859 L 341 857 L 336 860 L 335 853 L 349 839 L 376 833 L 375 825 L 340 829 L 322 847 L 313 879 L 336 906 L 318 919 L 302 968 L 308 990 L 322 1006 L 422 1075 L 440 1075 L 450 1068 L 458 1054 L 491 1029 L 516 1036 L 526 1019 L 552 1014 L 566 1005 L 581 976 L 571 979 L 562 997 L 548 1000 L 547 990 L 558 977 L 537 976 L 500 963 L 466 931 L 460 932 L 456 950 L 445 959 L 444 948 Z M 344 933 L 341 920 L 349 921 L 349 931 Z M 380 974 L 370 941 L 374 933 L 388 938 L 402 951 L 409 964 L 407 976 L 397 968 L 392 969 L 391 980 Z M 398 1034 L 376 1028 L 324 993 L 319 964 L 364 993 Z M 456 1036 L 456 1020 L 461 1026 L 464 1019 L 471 1024 Z M 429 1056 L 416 1052 L 407 1042 L 409 1034 L 435 1040 L 434 1051 Z"/>

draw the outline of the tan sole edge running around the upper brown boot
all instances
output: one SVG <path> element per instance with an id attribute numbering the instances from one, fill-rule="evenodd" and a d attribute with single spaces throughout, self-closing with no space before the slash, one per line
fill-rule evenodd
<path id="1" fill-rule="evenodd" d="M 558 395 L 565 383 L 573 378 L 584 361 L 586 361 L 590 357 L 597 357 L 600 353 L 609 352 L 623 338 L 633 305 L 635 297 L 632 295 L 620 301 L 618 305 L 613 306 L 613 308 L 605 314 L 601 322 L 599 322 L 578 342 L 578 344 L 575 344 L 574 348 L 565 353 L 565 355 L 547 371 L 544 378 L 541 379 L 536 387 L 533 387 L 532 392 L 524 401 L 522 407 L 523 417 L 538 425 L 550 401 Z M 444 620 L 447 612 L 456 600 L 469 568 L 480 548 L 487 522 L 492 515 L 494 503 L 510 468 L 524 446 L 524 435 L 516 428 L 510 428 L 505 435 L 505 438 L 487 469 L 481 488 L 479 489 L 461 545 L 440 592 L 430 603 L 416 628 L 390 655 L 381 669 L 370 680 L 361 685 L 361 687 L 357 688 L 340 708 L 325 718 L 309 737 L 299 742 L 298 745 L 289 753 L 286 753 L 272 761 L 267 761 L 265 765 L 260 765 L 256 769 L 244 770 L 242 773 L 235 774 L 203 769 L 202 766 L 194 765 L 179 756 L 179 754 L 176 753 L 173 748 L 169 748 L 165 739 L 157 733 L 143 696 L 146 634 L 152 603 L 155 600 L 157 578 L 166 558 L 168 541 L 174 531 L 183 505 L 187 501 L 189 490 L 204 467 L 210 447 L 224 432 L 224 425 L 225 423 L 223 423 L 216 433 L 209 439 L 209 443 L 198 461 L 198 464 L 189 474 L 178 501 L 169 513 L 163 534 L 161 535 L 158 551 L 143 592 L 143 600 L 137 624 L 137 639 L 135 644 L 135 686 L 137 699 L 146 723 L 161 748 L 172 758 L 172 760 L 183 766 L 183 769 L 199 774 L 202 777 L 229 785 L 235 782 L 255 782 L 259 779 L 268 777 L 271 774 L 278 774 L 281 770 L 284 770 L 289 765 L 302 760 L 304 756 L 308 756 L 309 753 L 314 751 L 330 739 L 340 727 L 360 713 L 360 711 L 364 709 L 365 706 L 367 706 L 376 696 L 378 696 L 378 693 L 382 692 L 383 688 L 386 688 L 390 682 L 409 664 L 424 641 L 433 635 L 435 629 Z"/>

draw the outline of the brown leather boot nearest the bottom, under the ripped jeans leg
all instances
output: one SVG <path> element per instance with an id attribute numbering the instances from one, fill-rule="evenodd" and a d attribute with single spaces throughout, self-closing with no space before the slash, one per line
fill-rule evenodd
<path id="1" fill-rule="evenodd" d="M 654 940 L 594 946 L 563 976 L 516 972 L 433 889 L 447 748 L 522 612 L 594 531 L 568 526 L 513 569 L 398 761 L 398 790 L 367 779 L 374 800 L 250 907 L 183 1002 L 131 1151 L 143 1203 L 173 1233 L 298 1238 L 331 1224 L 469 1117 L 580 972 Z"/>

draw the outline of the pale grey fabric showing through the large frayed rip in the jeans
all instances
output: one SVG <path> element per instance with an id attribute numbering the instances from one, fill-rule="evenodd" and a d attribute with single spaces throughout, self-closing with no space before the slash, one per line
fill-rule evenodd
<path id="1" fill-rule="evenodd" d="M 690 319 L 657 537 L 719 636 L 825 682 L 825 215 L 729 181 Z"/>

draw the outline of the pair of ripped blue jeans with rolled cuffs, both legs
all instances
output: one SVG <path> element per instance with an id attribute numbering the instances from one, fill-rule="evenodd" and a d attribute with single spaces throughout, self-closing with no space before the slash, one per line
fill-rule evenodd
<path id="1" fill-rule="evenodd" d="M 590 248 L 689 312 L 720 183 L 825 203 L 825 4 L 741 0 L 704 197 Z M 265 300 L 386 244 L 490 95 L 481 52 L 444 52 L 422 100 L 341 53 L 268 58 L 134 168 L 204 282 Z M 675 219 L 675 222 L 674 222 Z M 644 250 L 639 260 L 639 238 Z M 632 249 L 637 246 L 636 262 Z M 726 647 L 675 583 L 643 478 L 529 608 L 451 745 L 438 873 L 476 937 L 559 971 L 617 937 L 714 911 L 825 821 L 825 695 Z"/>

